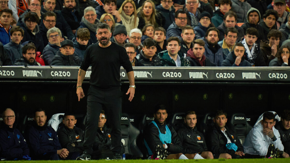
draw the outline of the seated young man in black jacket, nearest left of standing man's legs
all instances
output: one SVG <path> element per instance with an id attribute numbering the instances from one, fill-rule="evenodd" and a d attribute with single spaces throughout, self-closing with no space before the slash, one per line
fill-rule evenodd
<path id="1" fill-rule="evenodd" d="M 62 123 L 64 125 L 57 130 L 59 143 L 68 150 L 69 155 L 73 154 L 71 160 L 76 160 L 83 153 L 83 130 L 75 126 L 77 119 L 74 114 L 65 113 Z"/>

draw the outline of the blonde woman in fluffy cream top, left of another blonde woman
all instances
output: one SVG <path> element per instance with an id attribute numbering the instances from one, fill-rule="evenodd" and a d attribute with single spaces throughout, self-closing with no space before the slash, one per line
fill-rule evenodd
<path id="1" fill-rule="evenodd" d="M 138 27 L 139 18 L 137 17 L 137 10 L 133 0 L 125 0 L 118 12 L 127 33 Z"/>

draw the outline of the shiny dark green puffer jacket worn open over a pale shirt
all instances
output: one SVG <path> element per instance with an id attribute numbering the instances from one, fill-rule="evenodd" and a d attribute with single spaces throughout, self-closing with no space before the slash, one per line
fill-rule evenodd
<path id="1" fill-rule="evenodd" d="M 187 59 L 184 59 L 183 54 L 181 52 L 178 52 L 177 55 L 180 57 L 181 66 L 182 67 L 189 67 L 190 63 Z M 160 53 L 158 53 L 158 56 L 160 57 L 160 63 L 162 66 L 175 66 L 175 61 L 171 59 L 168 55 L 168 50 L 164 50 Z"/>

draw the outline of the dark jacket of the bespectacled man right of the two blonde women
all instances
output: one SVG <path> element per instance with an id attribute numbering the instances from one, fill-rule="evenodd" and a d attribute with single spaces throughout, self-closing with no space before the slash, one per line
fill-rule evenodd
<path id="1" fill-rule="evenodd" d="M 156 6 L 155 9 L 160 11 L 162 13 L 162 15 L 166 18 L 163 28 L 165 30 L 167 30 L 168 27 L 175 21 L 174 20 L 175 19 L 175 8 L 174 8 L 174 6 L 173 5 L 171 6 L 171 11 L 163 8 L 162 5 Z"/>

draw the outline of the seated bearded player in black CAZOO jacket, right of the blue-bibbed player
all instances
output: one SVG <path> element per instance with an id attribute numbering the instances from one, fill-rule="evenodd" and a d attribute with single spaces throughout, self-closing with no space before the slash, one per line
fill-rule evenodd
<path id="1" fill-rule="evenodd" d="M 188 111 L 185 115 L 184 128 L 178 130 L 177 135 L 183 146 L 183 153 L 197 153 L 205 159 L 213 159 L 213 154 L 207 151 L 205 138 L 196 128 L 196 113 Z M 200 157 L 200 156 L 199 156 Z"/>

